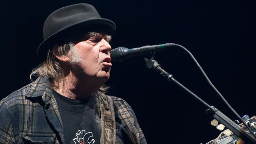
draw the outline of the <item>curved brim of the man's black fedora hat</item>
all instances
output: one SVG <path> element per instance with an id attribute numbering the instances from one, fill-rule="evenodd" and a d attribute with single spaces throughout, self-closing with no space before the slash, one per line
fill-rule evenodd
<path id="1" fill-rule="evenodd" d="M 74 34 L 74 32 L 77 31 L 97 29 L 103 30 L 104 32 L 108 33 L 108 35 L 113 35 L 115 33 L 115 23 L 105 18 L 94 18 L 63 28 L 50 35 L 39 45 L 37 48 L 37 55 L 40 58 L 45 59 L 48 50 L 51 49 L 55 44 L 61 44 L 63 39 L 70 37 L 70 34 Z"/>

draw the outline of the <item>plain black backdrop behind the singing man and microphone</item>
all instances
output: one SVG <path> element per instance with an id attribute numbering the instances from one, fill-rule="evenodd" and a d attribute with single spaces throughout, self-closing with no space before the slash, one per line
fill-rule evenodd
<path id="1" fill-rule="evenodd" d="M 216 0 L 62 0 L 1 4 L 1 98 L 30 83 L 29 74 L 41 61 L 43 22 L 59 7 L 93 4 L 117 31 L 112 48 L 135 48 L 173 42 L 197 58 L 213 84 L 241 115 L 256 115 L 255 4 Z M 180 48 L 156 54 L 162 68 L 232 120 L 237 118 L 209 86 L 191 57 Z M 158 74 L 141 57 L 113 62 L 109 94 L 134 109 L 149 144 L 206 143 L 220 133 L 210 125 L 206 107 Z"/>

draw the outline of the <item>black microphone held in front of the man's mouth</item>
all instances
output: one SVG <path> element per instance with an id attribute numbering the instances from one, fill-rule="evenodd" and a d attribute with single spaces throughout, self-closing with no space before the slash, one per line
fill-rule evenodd
<path id="1" fill-rule="evenodd" d="M 175 46 L 174 43 L 166 43 L 166 44 L 156 44 L 152 46 L 142 46 L 139 48 L 125 48 L 125 47 L 118 47 L 110 51 L 110 57 L 112 61 L 115 62 L 123 62 L 126 59 L 138 55 L 142 55 L 146 57 L 147 55 L 152 55 L 154 52 L 160 52 L 163 50 L 169 49 L 171 46 Z"/>

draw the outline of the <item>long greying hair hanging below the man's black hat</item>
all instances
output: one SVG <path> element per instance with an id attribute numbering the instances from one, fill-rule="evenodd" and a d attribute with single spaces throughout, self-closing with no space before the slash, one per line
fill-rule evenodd
<path id="1" fill-rule="evenodd" d="M 95 37 L 99 33 L 97 32 L 88 32 L 85 35 L 85 38 Z M 108 41 L 110 41 L 111 36 L 108 35 Z M 58 59 L 55 55 L 67 55 L 70 50 L 74 47 L 74 42 L 65 42 L 64 44 L 56 44 L 53 46 L 52 50 L 48 50 L 46 61 L 44 61 L 41 65 L 34 68 L 30 74 L 30 80 L 35 81 L 35 79 L 39 76 L 45 76 L 53 83 L 62 83 L 64 79 L 63 68 L 59 63 Z M 77 61 L 76 59 L 74 61 Z M 109 87 L 103 85 L 98 90 L 100 95 L 106 94 Z"/>

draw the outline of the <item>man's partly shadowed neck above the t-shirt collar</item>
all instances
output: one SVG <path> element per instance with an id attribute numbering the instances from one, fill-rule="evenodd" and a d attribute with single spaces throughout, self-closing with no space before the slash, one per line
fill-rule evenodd
<path id="1" fill-rule="evenodd" d="M 89 98 L 102 86 L 92 83 L 88 78 L 78 78 L 71 70 L 64 76 L 63 81 L 51 85 L 56 92 L 71 99 Z"/>

